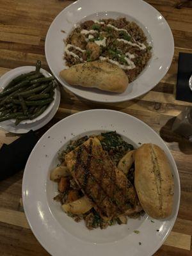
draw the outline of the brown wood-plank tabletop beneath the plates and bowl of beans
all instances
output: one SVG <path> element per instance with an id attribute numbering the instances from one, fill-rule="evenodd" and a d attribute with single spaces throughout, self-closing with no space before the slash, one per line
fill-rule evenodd
<path id="1" fill-rule="evenodd" d="M 96 1 L 96 0 L 95 0 Z M 192 143 L 170 131 L 174 116 L 188 102 L 175 100 L 177 61 L 179 52 L 192 53 L 192 4 L 190 1 L 148 0 L 163 14 L 172 28 L 175 54 L 168 74 L 143 97 L 118 104 L 96 104 L 77 99 L 62 90 L 61 104 L 56 116 L 39 136 L 72 113 L 93 108 L 117 109 L 147 123 L 170 148 L 177 163 L 181 183 L 181 200 L 177 221 L 165 243 L 155 255 L 191 254 L 192 235 Z M 72 1 L 61 0 L 1 0 L 0 1 L 0 76 L 12 68 L 35 65 L 36 60 L 49 70 L 44 54 L 47 29 L 52 20 Z M 0 130 L 0 147 L 18 138 Z M 0 255 L 43 256 L 49 255 L 31 232 L 22 208 L 21 187 L 23 171 L 0 182 Z M 64 254 L 65 255 L 65 252 Z"/>

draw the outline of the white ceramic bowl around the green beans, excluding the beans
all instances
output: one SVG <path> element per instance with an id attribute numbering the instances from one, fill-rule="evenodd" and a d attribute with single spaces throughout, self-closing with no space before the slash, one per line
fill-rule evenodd
<path id="1" fill-rule="evenodd" d="M 18 67 L 18 68 L 14 68 L 14 69 L 10 70 L 9 72 L 7 72 L 3 76 L 1 76 L 0 90 L 3 90 L 7 86 L 7 84 L 10 83 L 10 81 L 12 81 L 15 77 L 20 76 L 21 74 L 25 74 L 25 73 L 34 71 L 34 70 L 35 70 L 34 66 L 24 66 L 24 67 Z M 42 72 L 42 74 L 45 77 L 51 76 L 51 74 L 43 68 L 40 69 L 40 72 Z M 37 116 L 33 120 L 23 120 L 20 122 L 20 124 L 32 124 L 32 123 L 42 120 L 45 116 L 47 116 L 51 112 L 51 109 L 53 108 L 55 101 L 56 101 L 56 90 L 54 90 L 54 92 L 55 92 L 54 96 L 53 96 L 54 100 L 52 100 L 52 102 L 49 104 L 48 108 L 45 109 L 45 111 L 44 111 L 44 113 L 42 113 L 42 115 Z M 9 121 L 15 122 L 15 119 L 11 119 Z"/>

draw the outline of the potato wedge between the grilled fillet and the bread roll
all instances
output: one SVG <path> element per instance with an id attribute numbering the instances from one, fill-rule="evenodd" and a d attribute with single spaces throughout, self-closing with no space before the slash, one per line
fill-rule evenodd
<path id="1" fill-rule="evenodd" d="M 122 172 L 127 174 L 132 164 L 134 163 L 134 154 L 135 150 L 127 152 L 127 154 L 125 154 L 125 156 L 122 157 L 122 159 L 120 159 L 120 161 L 118 162 L 118 170 L 121 170 Z"/>

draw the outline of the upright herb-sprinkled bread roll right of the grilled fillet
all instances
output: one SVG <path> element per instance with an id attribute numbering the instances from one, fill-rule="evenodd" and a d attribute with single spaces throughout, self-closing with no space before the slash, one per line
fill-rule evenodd
<path id="1" fill-rule="evenodd" d="M 140 204 L 149 216 L 167 218 L 173 208 L 173 175 L 164 151 L 143 144 L 135 154 L 134 186 Z"/>

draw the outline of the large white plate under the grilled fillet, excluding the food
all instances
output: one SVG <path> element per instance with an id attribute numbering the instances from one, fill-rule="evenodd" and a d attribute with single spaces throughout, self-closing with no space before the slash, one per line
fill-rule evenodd
<path id="1" fill-rule="evenodd" d="M 155 143 L 163 148 L 172 166 L 175 182 L 173 213 L 166 220 L 145 214 L 141 220 L 129 219 L 127 225 L 106 230 L 88 230 L 83 221 L 76 223 L 52 198 L 56 183 L 49 180 L 50 170 L 58 163 L 58 152 L 73 138 L 100 131 L 116 131 L 138 147 Z M 149 256 L 163 244 L 175 223 L 180 200 L 180 182 L 172 154 L 159 135 L 137 118 L 105 109 L 83 111 L 55 124 L 38 141 L 29 156 L 22 182 L 24 211 L 38 241 L 54 256 Z M 139 230 L 135 234 L 134 230 Z M 159 232 L 157 232 L 159 230 Z M 141 243 L 141 245 L 139 244 Z"/>

